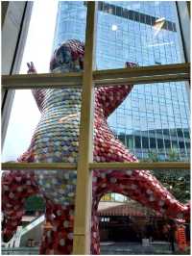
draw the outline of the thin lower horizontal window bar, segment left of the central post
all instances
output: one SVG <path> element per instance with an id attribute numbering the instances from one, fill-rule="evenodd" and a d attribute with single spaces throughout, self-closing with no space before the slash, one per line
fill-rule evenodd
<path id="1" fill-rule="evenodd" d="M 2 170 L 13 169 L 77 169 L 77 164 L 71 163 L 3 163 Z"/>

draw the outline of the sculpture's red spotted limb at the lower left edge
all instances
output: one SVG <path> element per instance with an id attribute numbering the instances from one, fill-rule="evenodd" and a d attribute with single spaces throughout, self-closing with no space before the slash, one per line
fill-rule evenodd
<path id="1" fill-rule="evenodd" d="M 3 241 L 8 242 L 24 215 L 24 202 L 38 188 L 33 172 L 5 171 L 2 175 Z"/>

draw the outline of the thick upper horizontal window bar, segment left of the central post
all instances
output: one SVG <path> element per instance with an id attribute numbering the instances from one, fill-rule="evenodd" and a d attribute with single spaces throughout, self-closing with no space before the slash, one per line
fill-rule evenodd
<path id="1" fill-rule="evenodd" d="M 83 72 L 70 73 L 44 73 L 44 74 L 20 74 L 3 75 L 3 89 L 24 90 L 24 89 L 60 89 L 64 87 L 82 88 Z"/>

